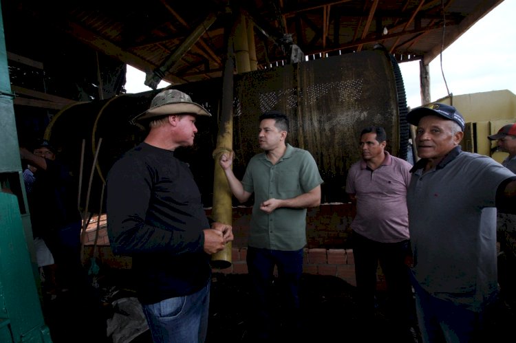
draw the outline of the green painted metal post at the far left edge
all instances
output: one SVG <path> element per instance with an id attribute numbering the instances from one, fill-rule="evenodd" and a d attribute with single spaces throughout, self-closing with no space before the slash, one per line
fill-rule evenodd
<path id="1" fill-rule="evenodd" d="M 39 298 L 30 214 L 23 185 L 18 133 L 0 8 L 0 342 L 50 343 Z M 20 211 L 23 206 L 23 214 Z"/>

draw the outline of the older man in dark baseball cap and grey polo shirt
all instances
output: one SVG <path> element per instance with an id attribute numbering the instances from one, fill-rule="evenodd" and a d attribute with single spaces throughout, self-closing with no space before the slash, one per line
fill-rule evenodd
<path id="1" fill-rule="evenodd" d="M 418 107 L 407 121 L 417 126 L 421 157 L 407 206 L 423 342 L 477 342 L 498 291 L 496 212 L 516 212 L 516 175 L 491 157 L 461 151 L 465 122 L 453 106 Z"/>

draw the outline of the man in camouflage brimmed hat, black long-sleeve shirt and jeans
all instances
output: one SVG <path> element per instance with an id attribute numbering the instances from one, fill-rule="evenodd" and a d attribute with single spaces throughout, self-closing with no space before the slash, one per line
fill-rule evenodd
<path id="1" fill-rule="evenodd" d="M 174 156 L 191 146 L 197 115 L 190 96 L 166 89 L 134 121 L 149 127 L 107 177 L 107 230 L 115 254 L 133 258 L 133 272 L 154 342 L 204 342 L 210 255 L 233 240 L 230 225 L 210 227 L 189 166 Z"/>

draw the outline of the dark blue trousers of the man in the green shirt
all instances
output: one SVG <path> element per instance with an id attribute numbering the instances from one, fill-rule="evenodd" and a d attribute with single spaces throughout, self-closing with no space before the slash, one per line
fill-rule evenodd
<path id="1" fill-rule="evenodd" d="M 274 267 L 278 268 L 280 300 L 286 309 L 283 318 L 288 331 L 297 333 L 301 329 L 299 313 L 299 283 L 303 274 L 303 249 L 283 252 L 280 250 L 248 247 L 247 267 L 252 283 L 255 308 L 255 338 L 267 340 L 274 332 L 275 295 L 273 286 Z"/>

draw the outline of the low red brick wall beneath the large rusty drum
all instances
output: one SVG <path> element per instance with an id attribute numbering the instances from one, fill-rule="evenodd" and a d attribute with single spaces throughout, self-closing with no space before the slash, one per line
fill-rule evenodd
<path id="1" fill-rule="evenodd" d="M 251 216 L 250 207 L 233 208 L 233 235 L 231 258 L 232 264 L 226 269 L 213 269 L 225 274 L 247 273 L 246 254 L 247 237 Z M 206 210 L 211 214 L 211 209 Z M 350 224 L 354 217 L 352 206 L 348 203 L 322 204 L 318 208 L 308 210 L 307 214 L 307 247 L 304 249 L 303 272 L 316 275 L 331 275 L 342 278 L 351 285 L 355 284 L 355 265 L 353 250 L 348 238 Z M 98 230 L 97 256 L 101 263 L 114 268 L 131 268 L 131 258 L 116 256 L 109 248 L 109 240 L 105 230 L 105 215 L 100 222 L 94 217 L 87 228 L 85 256 L 93 256 L 94 237 Z M 89 259 L 85 258 L 85 262 Z M 379 276 L 381 281 L 381 271 Z"/>

